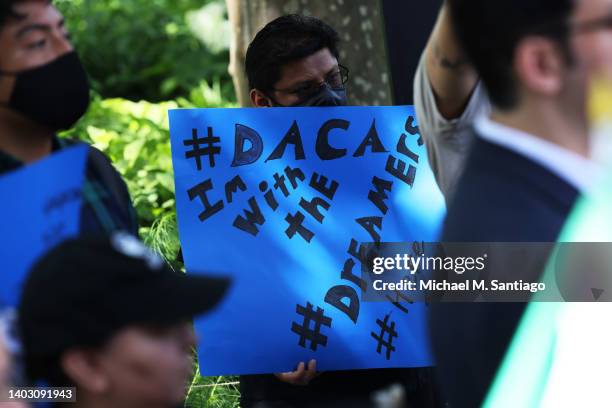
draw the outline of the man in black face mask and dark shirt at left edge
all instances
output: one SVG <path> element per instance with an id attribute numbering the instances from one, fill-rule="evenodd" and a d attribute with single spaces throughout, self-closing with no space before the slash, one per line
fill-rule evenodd
<path id="1" fill-rule="evenodd" d="M 0 1 L 0 174 L 79 142 L 59 139 L 89 105 L 87 74 L 49 0 Z M 89 148 L 81 230 L 138 233 L 125 183 Z"/>

